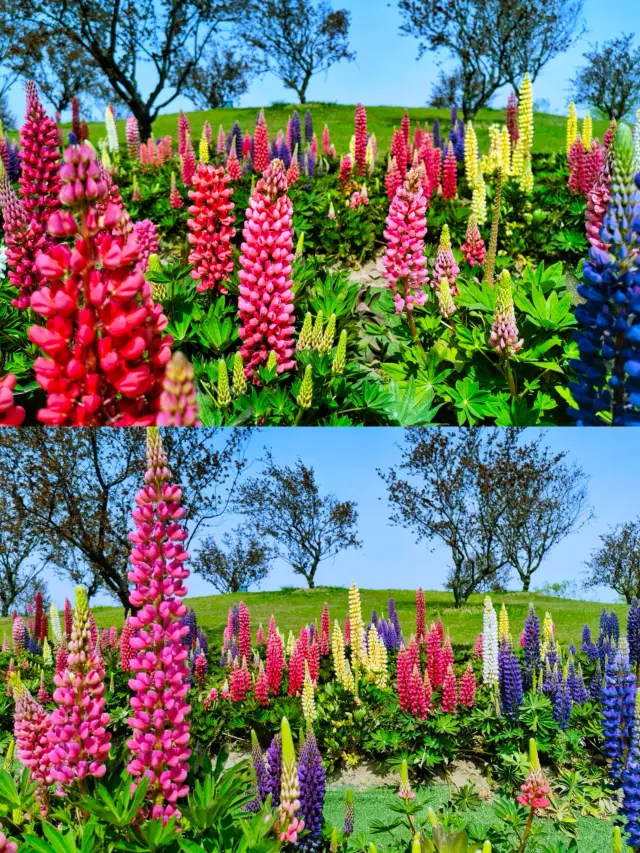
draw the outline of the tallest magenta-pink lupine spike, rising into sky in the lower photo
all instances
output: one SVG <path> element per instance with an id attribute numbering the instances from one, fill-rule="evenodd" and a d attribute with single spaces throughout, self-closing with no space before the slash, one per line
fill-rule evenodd
<path id="1" fill-rule="evenodd" d="M 135 675 L 129 681 L 134 695 L 129 720 L 133 735 L 127 741 L 132 759 L 127 769 L 134 778 L 149 778 L 149 817 L 166 822 L 172 815 L 179 817 L 177 801 L 188 791 L 191 708 L 185 697 L 190 673 L 182 638 L 189 628 L 180 619 L 187 612 L 182 599 L 189 571 L 184 565 L 187 532 L 180 524 L 185 515 L 182 491 L 168 482 L 167 458 L 155 427 L 147 433 L 147 463 L 145 485 L 135 498 L 136 529 L 129 534 L 133 543 L 129 601 L 136 612 L 129 617 L 130 667 Z"/>

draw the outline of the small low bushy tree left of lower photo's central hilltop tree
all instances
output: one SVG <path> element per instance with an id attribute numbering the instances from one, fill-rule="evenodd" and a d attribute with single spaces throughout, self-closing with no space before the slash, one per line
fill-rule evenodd
<path id="1" fill-rule="evenodd" d="M 213 536 L 203 539 L 193 569 L 218 592 L 239 592 L 259 586 L 269 575 L 275 556 L 272 546 L 240 525 L 222 536 L 222 545 Z"/>

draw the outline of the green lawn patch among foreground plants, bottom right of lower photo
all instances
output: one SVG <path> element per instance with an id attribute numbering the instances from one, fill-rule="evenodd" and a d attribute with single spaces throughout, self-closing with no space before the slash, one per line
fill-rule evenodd
<path id="1" fill-rule="evenodd" d="M 423 789 L 424 790 L 424 789 Z M 445 784 L 438 784 L 428 789 L 428 799 L 425 805 L 435 806 L 446 802 L 448 788 Z M 389 808 L 390 804 L 397 800 L 395 790 L 389 788 L 371 788 L 368 791 L 356 791 L 354 793 L 355 805 L 355 830 L 357 836 L 368 836 L 378 849 L 390 843 L 394 836 L 388 833 L 372 834 L 371 824 L 380 820 L 391 822 L 396 815 Z M 324 814 L 327 821 L 334 826 L 342 827 L 344 820 L 344 791 L 332 789 L 327 791 Z M 462 815 L 469 822 L 480 826 L 490 826 L 497 823 L 490 804 L 483 804 L 476 811 Z M 551 820 L 539 819 L 536 821 L 543 827 L 545 841 L 562 841 L 566 836 L 557 829 Z M 397 831 L 394 833 L 397 839 Z M 406 835 L 406 833 L 405 833 Z M 598 820 L 593 817 L 578 818 L 578 849 L 580 853 L 603 853 L 611 850 L 613 838 L 613 824 L 611 821 Z"/>

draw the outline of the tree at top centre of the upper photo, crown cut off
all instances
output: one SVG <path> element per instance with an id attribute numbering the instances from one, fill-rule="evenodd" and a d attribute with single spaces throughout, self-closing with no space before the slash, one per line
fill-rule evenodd
<path id="1" fill-rule="evenodd" d="M 306 103 L 311 78 L 355 54 L 349 50 L 351 15 L 327 0 L 250 0 L 240 35 L 271 71 Z"/>

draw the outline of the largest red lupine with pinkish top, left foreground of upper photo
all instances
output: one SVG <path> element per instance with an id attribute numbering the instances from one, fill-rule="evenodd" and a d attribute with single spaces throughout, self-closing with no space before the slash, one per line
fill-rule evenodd
<path id="1" fill-rule="evenodd" d="M 29 329 L 46 356 L 34 363 L 47 392 L 38 419 L 54 426 L 154 423 L 173 342 L 162 334 L 168 320 L 135 268 L 135 240 L 114 236 L 126 230 L 128 217 L 110 202 L 104 215 L 96 209 L 108 188 L 93 149 L 70 146 L 60 174 L 60 197 L 78 217 L 55 211 L 49 232 L 76 241 L 73 247 L 61 242 L 36 261 L 48 280 L 30 300 L 46 321 Z"/>

